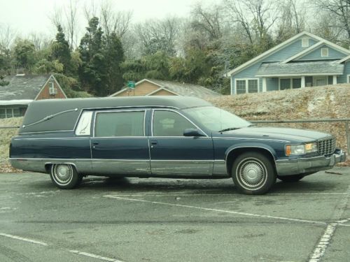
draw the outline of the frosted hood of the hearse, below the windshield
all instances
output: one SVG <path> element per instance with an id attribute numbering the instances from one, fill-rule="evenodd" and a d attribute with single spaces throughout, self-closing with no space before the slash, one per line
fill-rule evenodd
<path id="1" fill-rule="evenodd" d="M 283 140 L 291 143 L 304 143 L 321 138 L 331 137 L 328 133 L 321 133 L 318 131 L 304 130 L 304 129 L 290 129 L 281 127 L 258 127 L 250 126 L 232 131 L 223 132 L 221 136 L 224 137 L 239 137 L 239 138 L 258 138 L 258 139 L 272 139 Z"/>

